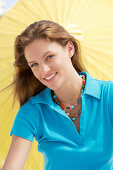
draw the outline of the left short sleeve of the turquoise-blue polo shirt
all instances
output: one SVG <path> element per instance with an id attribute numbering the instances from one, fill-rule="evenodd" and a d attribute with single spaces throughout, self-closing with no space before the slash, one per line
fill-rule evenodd
<path id="1" fill-rule="evenodd" d="M 39 138 L 39 111 L 30 102 L 25 103 L 18 111 L 10 136 L 16 135 L 33 142 L 34 137 Z"/>

